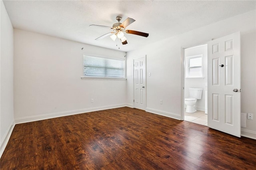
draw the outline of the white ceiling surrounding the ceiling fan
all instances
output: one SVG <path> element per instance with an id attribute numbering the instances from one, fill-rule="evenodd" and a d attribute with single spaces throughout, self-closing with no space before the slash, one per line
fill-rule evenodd
<path id="1" fill-rule="evenodd" d="M 175 36 L 256 9 L 256 1 L 106 1 L 4 0 L 14 28 L 121 51 Z M 126 34 L 128 44 L 106 37 L 116 16 L 136 20 L 126 30 L 149 33 L 148 38 Z M 121 21 L 121 22 L 122 22 Z M 118 46 L 116 46 L 116 44 Z M 118 49 L 120 47 L 120 49 Z"/>

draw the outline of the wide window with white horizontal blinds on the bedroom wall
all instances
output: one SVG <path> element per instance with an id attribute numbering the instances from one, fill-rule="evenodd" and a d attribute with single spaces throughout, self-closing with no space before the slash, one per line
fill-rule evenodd
<path id="1" fill-rule="evenodd" d="M 84 77 L 124 78 L 124 59 L 84 54 Z"/>

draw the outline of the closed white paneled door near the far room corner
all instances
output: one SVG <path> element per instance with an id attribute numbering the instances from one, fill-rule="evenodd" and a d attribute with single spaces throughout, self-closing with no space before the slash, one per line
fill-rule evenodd
<path id="1" fill-rule="evenodd" d="M 146 57 L 134 59 L 134 107 L 145 110 Z"/>

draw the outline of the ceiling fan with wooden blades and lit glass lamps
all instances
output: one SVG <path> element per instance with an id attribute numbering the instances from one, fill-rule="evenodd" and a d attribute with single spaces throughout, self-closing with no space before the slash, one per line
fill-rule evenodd
<path id="1" fill-rule="evenodd" d="M 148 33 L 144 33 L 144 32 L 138 32 L 138 31 L 134 31 L 134 30 L 125 30 L 125 28 L 127 26 L 129 26 L 130 24 L 132 24 L 135 20 L 132 18 L 126 18 L 126 20 L 124 20 L 123 23 L 120 23 L 120 21 L 122 20 L 122 17 L 117 16 L 116 17 L 116 21 L 117 23 L 113 24 L 112 27 L 109 26 L 100 26 L 100 25 L 90 25 L 90 26 L 96 26 L 96 27 L 102 27 L 102 28 L 108 28 L 113 30 L 113 32 L 109 32 L 107 34 L 104 34 L 103 36 L 100 36 L 98 38 L 96 38 L 95 40 L 101 40 L 102 38 L 105 38 L 107 36 L 110 36 L 110 38 L 115 41 L 116 38 L 119 38 L 122 42 L 122 44 L 127 44 L 127 38 L 124 36 L 124 32 L 127 34 L 134 34 L 134 35 L 138 35 L 138 36 L 143 36 L 143 37 L 148 37 Z"/>

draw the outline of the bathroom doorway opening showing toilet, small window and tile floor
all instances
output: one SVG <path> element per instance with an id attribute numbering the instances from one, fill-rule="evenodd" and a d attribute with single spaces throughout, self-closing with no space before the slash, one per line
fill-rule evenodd
<path id="1" fill-rule="evenodd" d="M 183 50 L 184 121 L 207 126 L 207 44 Z"/>

